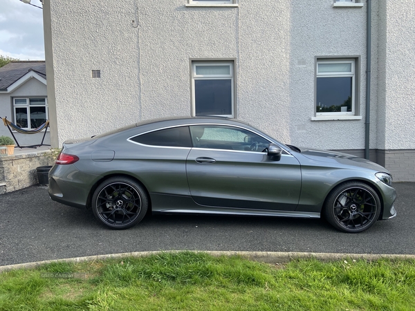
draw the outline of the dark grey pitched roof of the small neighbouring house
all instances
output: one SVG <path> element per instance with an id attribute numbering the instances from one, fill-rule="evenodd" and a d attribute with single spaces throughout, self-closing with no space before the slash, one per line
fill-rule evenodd
<path id="1" fill-rule="evenodd" d="M 0 68 L 0 91 L 7 91 L 8 87 L 21 77 L 33 71 L 46 79 L 45 61 L 15 61 Z"/>

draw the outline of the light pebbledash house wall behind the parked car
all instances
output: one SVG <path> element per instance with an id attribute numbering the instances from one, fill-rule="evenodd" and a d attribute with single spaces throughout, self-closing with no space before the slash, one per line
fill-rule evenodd
<path id="1" fill-rule="evenodd" d="M 192 115 L 194 60 L 234 62 L 234 117 L 284 143 L 363 156 L 367 1 L 44 0 L 50 138 Z M 415 181 L 415 3 L 371 1 L 371 159 Z M 315 117 L 315 63 L 358 60 L 358 114 Z M 100 70 L 100 79 L 92 70 Z"/>

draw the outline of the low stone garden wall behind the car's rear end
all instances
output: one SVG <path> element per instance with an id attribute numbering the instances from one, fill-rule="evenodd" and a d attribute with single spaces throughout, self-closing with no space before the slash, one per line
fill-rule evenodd
<path id="1" fill-rule="evenodd" d="M 50 150 L 0 157 L 0 194 L 36 185 L 36 168 L 54 162 Z"/>

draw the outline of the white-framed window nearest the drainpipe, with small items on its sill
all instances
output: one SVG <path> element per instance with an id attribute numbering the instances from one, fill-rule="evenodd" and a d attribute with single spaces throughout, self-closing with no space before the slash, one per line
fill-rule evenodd
<path id="1" fill-rule="evenodd" d="M 315 113 L 357 115 L 356 59 L 317 59 Z"/>

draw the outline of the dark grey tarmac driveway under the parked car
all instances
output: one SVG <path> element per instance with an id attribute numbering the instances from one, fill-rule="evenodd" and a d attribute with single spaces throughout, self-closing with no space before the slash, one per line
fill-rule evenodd
<path id="1" fill-rule="evenodd" d="M 147 216 L 116 231 L 89 211 L 53 202 L 46 187 L 29 187 L 0 196 L 0 266 L 171 249 L 415 254 L 415 183 L 394 187 L 398 216 L 360 234 L 324 220 L 233 216 Z"/>

